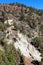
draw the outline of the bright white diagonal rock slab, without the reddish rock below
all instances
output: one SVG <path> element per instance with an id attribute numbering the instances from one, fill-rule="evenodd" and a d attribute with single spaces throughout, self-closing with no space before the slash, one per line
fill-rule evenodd
<path id="1" fill-rule="evenodd" d="M 26 57 L 32 58 L 37 61 L 41 61 L 41 53 L 36 50 L 36 48 L 30 44 L 31 39 L 22 33 L 18 33 L 17 41 L 14 43 L 16 49 L 20 49 L 21 54 Z"/>

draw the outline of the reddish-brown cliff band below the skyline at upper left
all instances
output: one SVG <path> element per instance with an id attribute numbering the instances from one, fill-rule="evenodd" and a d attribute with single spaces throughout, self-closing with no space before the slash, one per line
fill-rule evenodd
<path id="1" fill-rule="evenodd" d="M 0 11 L 16 11 L 16 12 L 20 12 L 21 8 L 18 7 L 17 5 L 8 5 L 8 4 L 0 4 Z"/>

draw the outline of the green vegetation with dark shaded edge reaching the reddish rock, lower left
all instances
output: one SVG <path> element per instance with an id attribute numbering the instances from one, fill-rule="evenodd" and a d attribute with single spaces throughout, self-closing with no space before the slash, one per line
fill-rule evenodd
<path id="1" fill-rule="evenodd" d="M 13 44 L 8 45 L 4 43 L 4 51 L 0 50 L 0 65 L 18 65 L 23 64 L 23 57 L 21 53 L 18 53 Z"/>

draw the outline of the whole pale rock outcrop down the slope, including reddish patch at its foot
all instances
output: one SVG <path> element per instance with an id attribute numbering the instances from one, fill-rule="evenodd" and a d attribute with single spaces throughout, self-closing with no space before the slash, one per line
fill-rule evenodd
<path id="1" fill-rule="evenodd" d="M 8 23 L 11 23 L 11 22 L 12 20 L 8 20 Z M 37 36 L 36 34 L 34 34 L 34 37 L 29 38 L 26 34 L 24 35 L 19 30 L 15 31 L 13 25 L 10 25 L 5 32 L 6 32 L 5 41 L 7 41 L 8 44 L 13 43 L 16 50 L 18 50 L 18 48 L 20 49 L 21 54 L 24 56 L 26 65 L 29 65 L 29 64 L 32 65 L 31 62 L 33 60 L 37 60 L 39 62 L 41 61 L 42 59 L 42 57 L 40 56 L 41 53 L 34 47 L 34 45 L 31 44 L 31 40 L 34 37 L 37 37 L 38 34 Z M 35 32 L 33 31 L 33 33 Z"/>

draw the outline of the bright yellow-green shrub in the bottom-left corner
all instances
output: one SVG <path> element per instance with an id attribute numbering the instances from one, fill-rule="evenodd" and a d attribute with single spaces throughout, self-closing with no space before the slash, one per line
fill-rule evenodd
<path id="1" fill-rule="evenodd" d="M 0 65 L 18 65 L 12 45 L 4 43 L 4 52 L 0 51 Z"/>

